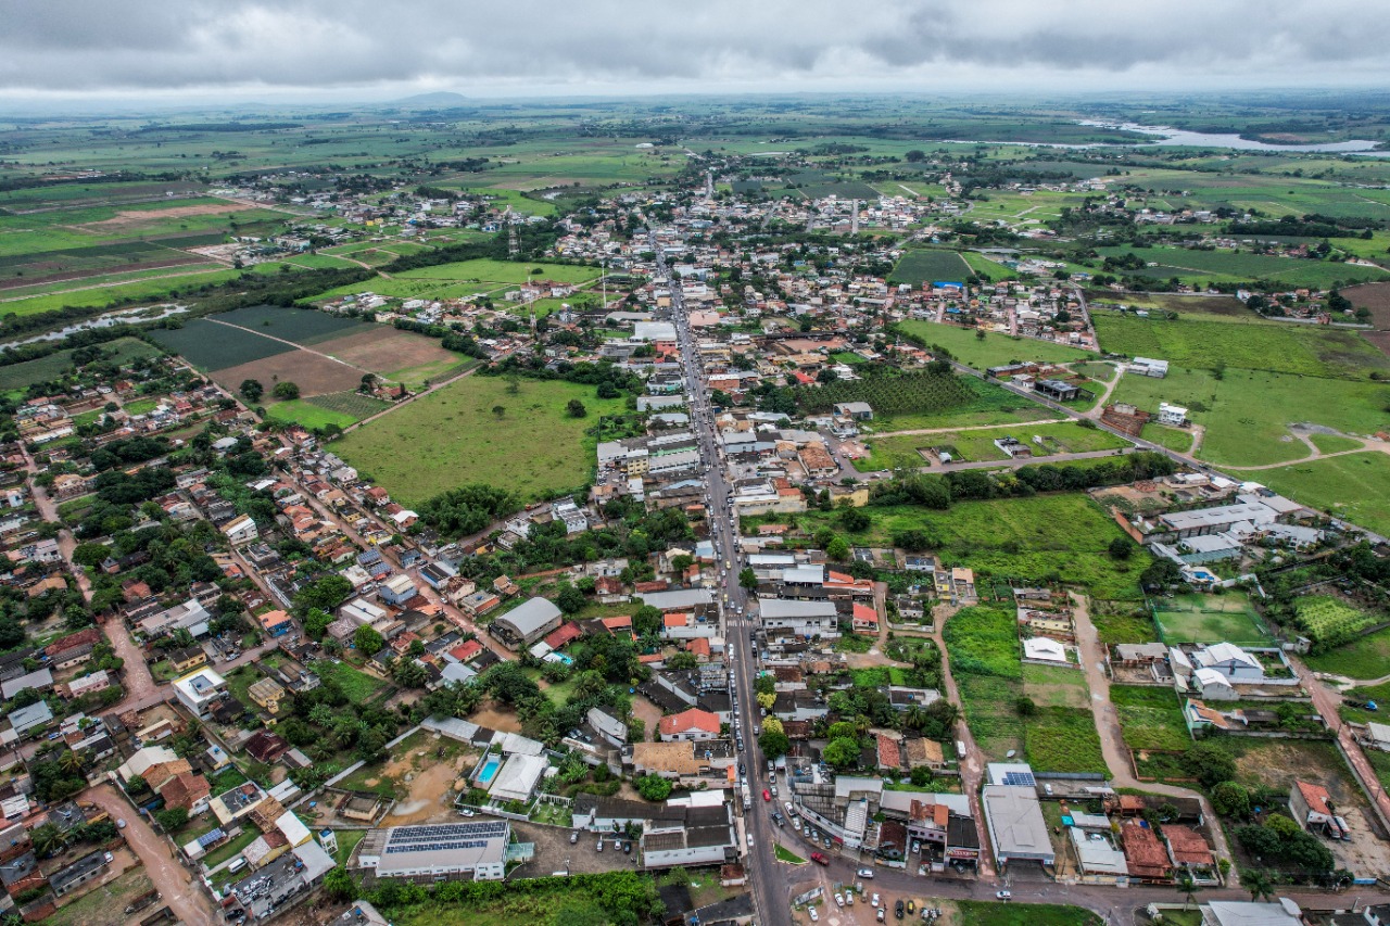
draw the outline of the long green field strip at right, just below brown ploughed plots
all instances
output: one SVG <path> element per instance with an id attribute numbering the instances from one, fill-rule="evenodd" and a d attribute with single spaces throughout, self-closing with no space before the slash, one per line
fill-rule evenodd
<path id="1" fill-rule="evenodd" d="M 1269 373 L 1362 378 L 1390 371 L 1390 357 L 1354 331 L 1279 321 L 1168 321 L 1097 311 L 1101 349 L 1125 356 L 1162 357 L 1175 367 L 1213 370 L 1219 364 Z"/>

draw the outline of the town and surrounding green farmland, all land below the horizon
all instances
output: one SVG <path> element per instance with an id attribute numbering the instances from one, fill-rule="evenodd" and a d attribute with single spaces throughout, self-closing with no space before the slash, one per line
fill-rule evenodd
<path id="1" fill-rule="evenodd" d="M 796 99 L 0 117 L 0 922 L 1390 922 L 1383 100 Z"/>

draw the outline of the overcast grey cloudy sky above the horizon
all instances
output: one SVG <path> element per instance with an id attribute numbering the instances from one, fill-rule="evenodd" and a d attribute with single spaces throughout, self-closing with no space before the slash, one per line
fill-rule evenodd
<path id="1" fill-rule="evenodd" d="M 1369 86 L 1384 0 L 0 0 L 0 97 Z"/>

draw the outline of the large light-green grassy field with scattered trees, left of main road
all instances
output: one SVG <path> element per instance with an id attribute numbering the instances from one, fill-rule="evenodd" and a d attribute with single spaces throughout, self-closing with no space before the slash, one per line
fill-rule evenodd
<path id="1" fill-rule="evenodd" d="M 584 402 L 588 416 L 569 417 L 570 399 Z M 592 387 L 521 380 L 512 395 L 500 377 L 470 375 L 364 424 L 334 449 L 402 503 L 467 482 L 534 498 L 589 477 L 595 438 L 587 431 L 621 407 L 621 399 L 596 399 Z"/>

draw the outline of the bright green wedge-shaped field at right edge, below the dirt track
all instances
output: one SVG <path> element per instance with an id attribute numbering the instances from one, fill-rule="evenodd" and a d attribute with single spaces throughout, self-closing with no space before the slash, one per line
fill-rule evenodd
<path id="1" fill-rule="evenodd" d="M 1384 453 L 1347 453 L 1273 470 L 1245 470 L 1244 476 L 1309 507 L 1390 534 L 1390 456 Z"/>

